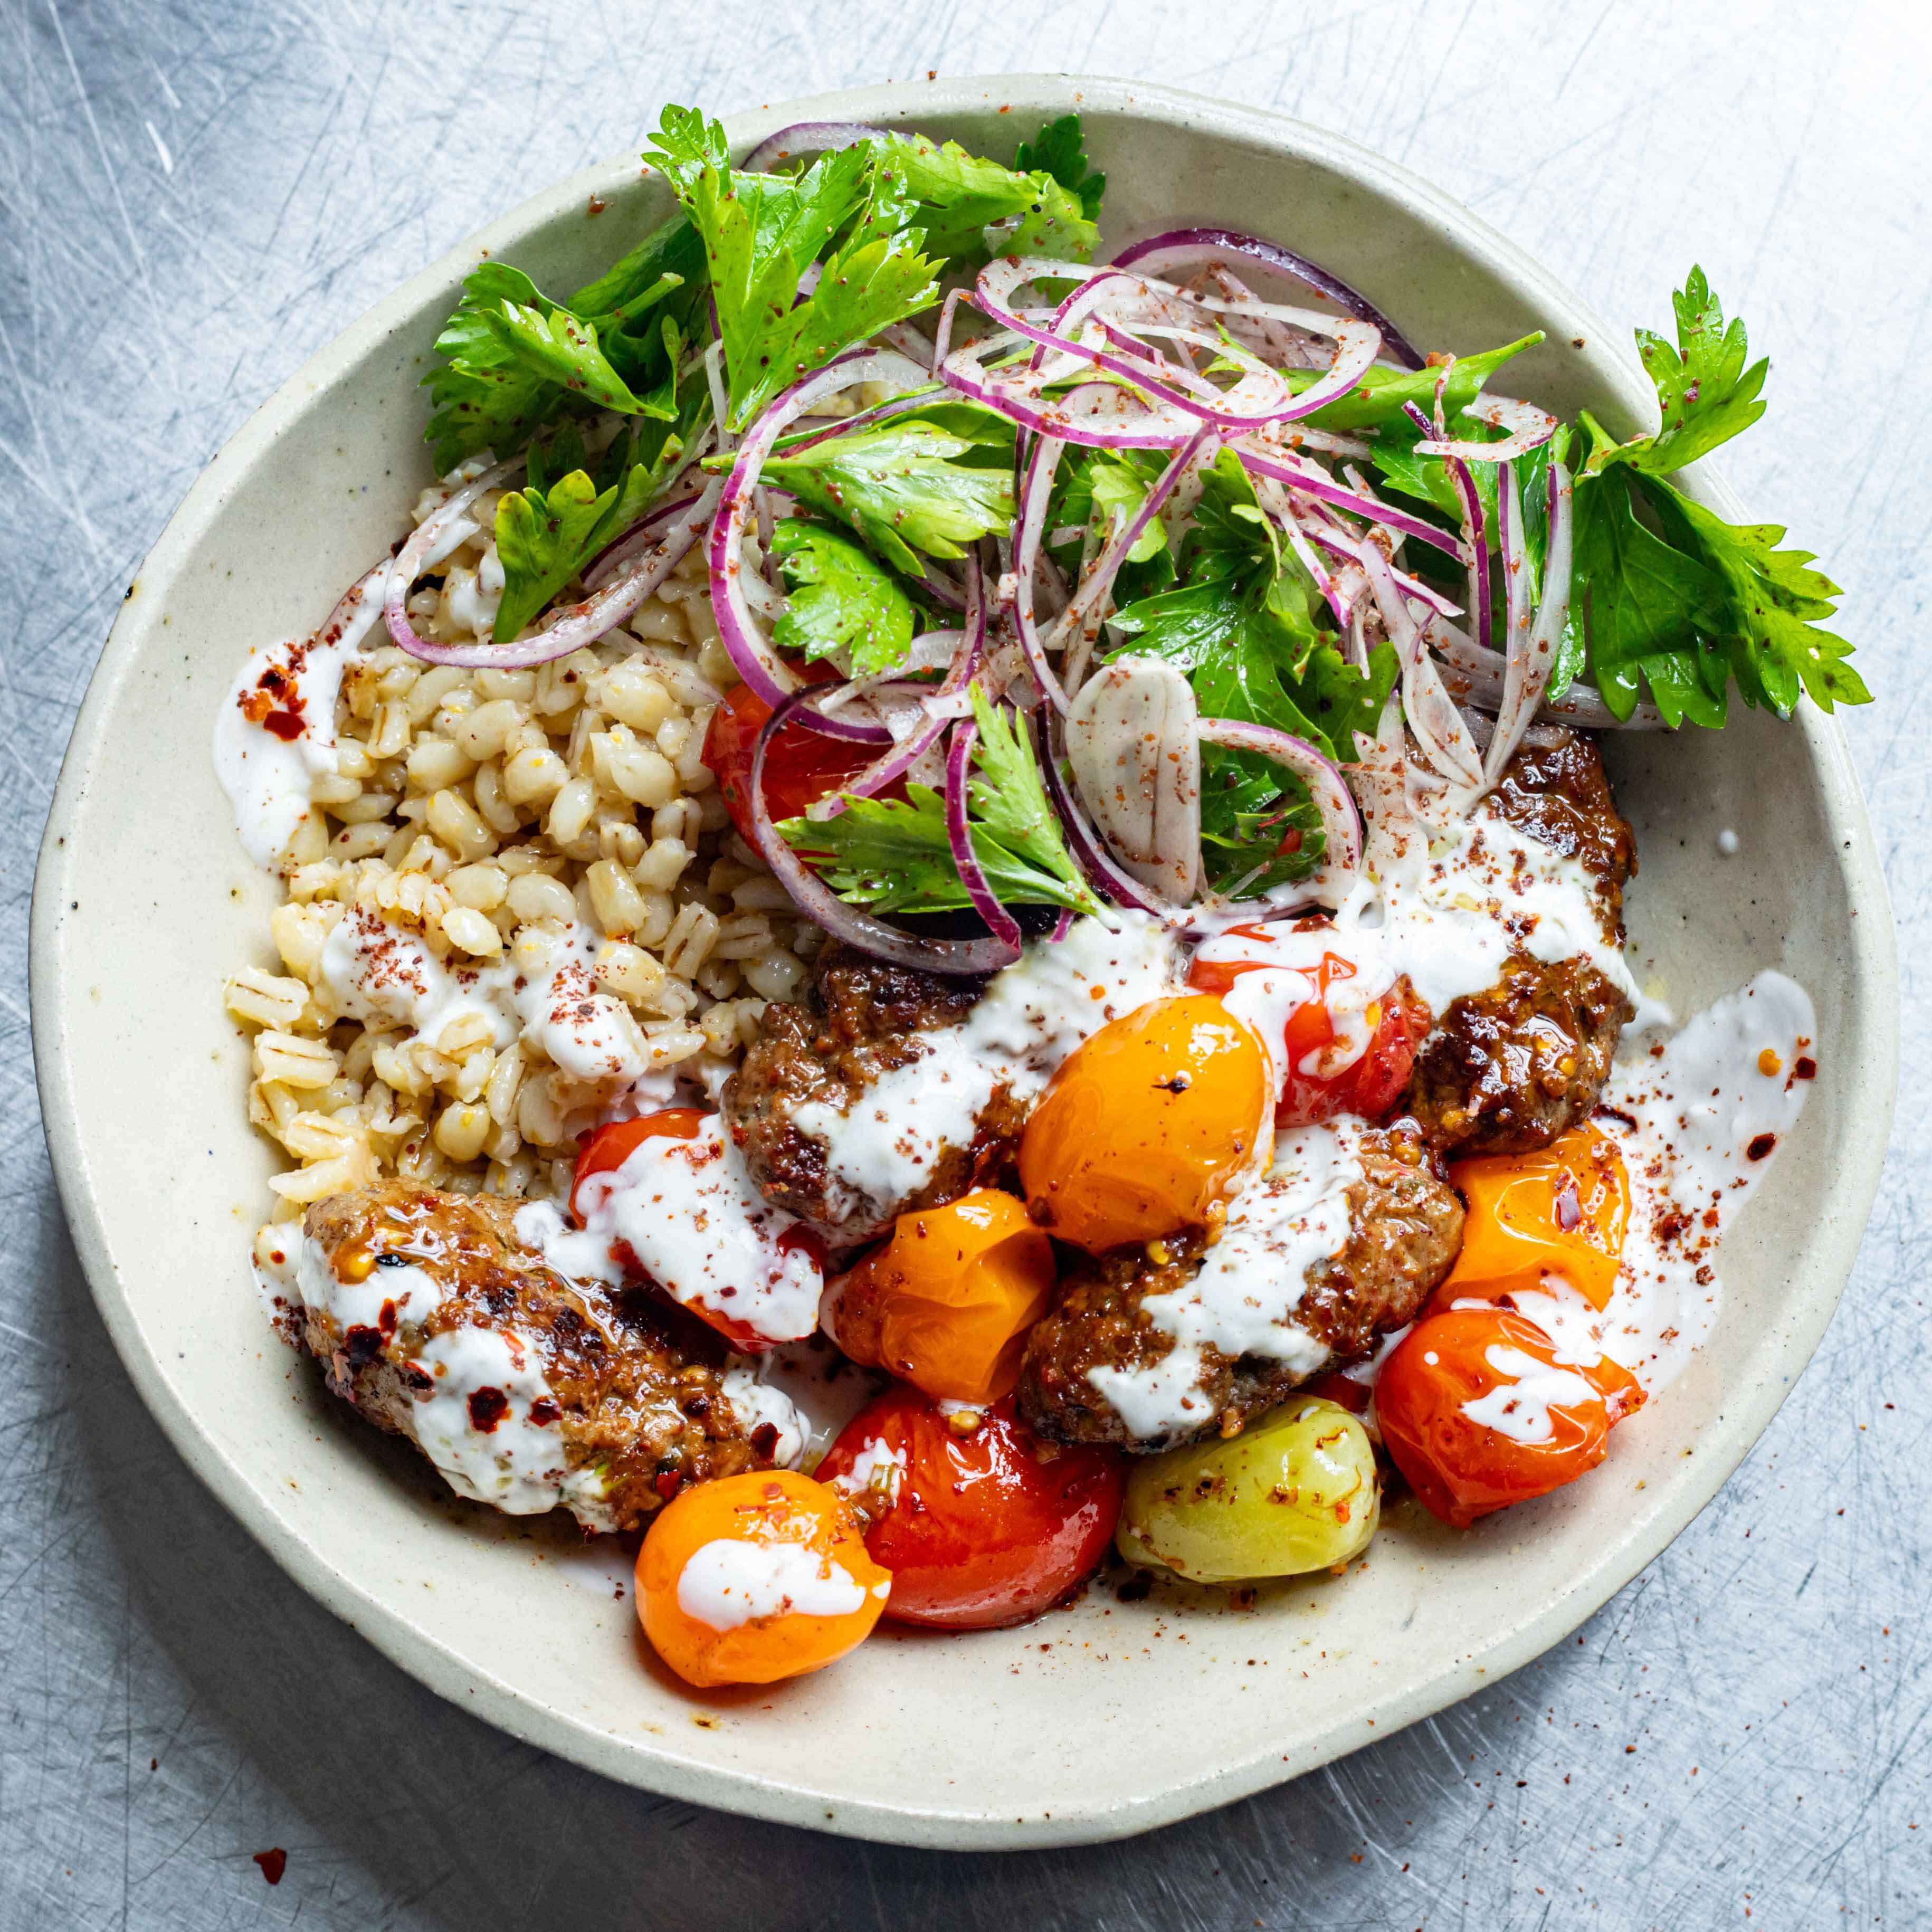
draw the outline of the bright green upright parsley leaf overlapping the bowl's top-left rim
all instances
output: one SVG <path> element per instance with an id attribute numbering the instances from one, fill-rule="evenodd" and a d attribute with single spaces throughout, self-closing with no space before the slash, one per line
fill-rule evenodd
<path id="1" fill-rule="evenodd" d="M 742 174 L 723 126 L 678 106 L 665 108 L 645 158 L 703 238 L 730 375 L 728 427 L 742 429 L 800 375 L 939 292 L 939 265 L 920 253 L 912 195 L 889 145 L 837 149 L 800 174 Z M 800 278 L 821 255 L 817 288 L 800 301 Z"/>

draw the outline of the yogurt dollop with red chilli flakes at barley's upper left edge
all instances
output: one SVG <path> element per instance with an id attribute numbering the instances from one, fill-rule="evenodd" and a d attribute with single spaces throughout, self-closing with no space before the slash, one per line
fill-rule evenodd
<path id="1" fill-rule="evenodd" d="M 309 815 L 309 786 L 336 769 L 342 668 L 383 614 L 388 564 L 350 593 L 350 616 L 330 636 L 249 649 L 214 711 L 214 775 L 236 835 L 257 866 L 276 866 Z"/>

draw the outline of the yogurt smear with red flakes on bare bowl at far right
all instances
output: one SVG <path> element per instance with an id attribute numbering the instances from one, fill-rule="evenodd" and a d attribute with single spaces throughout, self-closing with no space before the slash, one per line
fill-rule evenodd
<path id="1" fill-rule="evenodd" d="M 1648 1395 L 1683 1372 L 1718 1320 L 1718 1246 L 1797 1126 L 1816 1051 L 1812 1003 L 1779 972 L 1760 972 L 1669 1041 L 1625 1041 L 1594 1122 L 1631 1180 L 1609 1302 L 1598 1312 L 1555 1273 L 1540 1293 L 1511 1296 L 1565 1362 L 1607 1354 Z"/>

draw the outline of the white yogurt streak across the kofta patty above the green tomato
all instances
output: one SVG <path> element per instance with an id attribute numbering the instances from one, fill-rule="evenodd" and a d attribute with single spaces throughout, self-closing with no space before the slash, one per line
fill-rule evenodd
<path id="1" fill-rule="evenodd" d="M 1310 1275 L 1347 1246 L 1349 1186 L 1360 1179 L 1360 1121 L 1321 1121 L 1275 1136 L 1273 1165 L 1236 1196 L 1200 1273 L 1184 1289 L 1140 1304 L 1175 1347 L 1144 1368 L 1088 1370 L 1134 1439 L 1192 1434 L 1213 1416 L 1202 1387 L 1209 1347 L 1283 1362 L 1302 1376 L 1327 1362 L 1327 1345 L 1294 1312 Z"/>

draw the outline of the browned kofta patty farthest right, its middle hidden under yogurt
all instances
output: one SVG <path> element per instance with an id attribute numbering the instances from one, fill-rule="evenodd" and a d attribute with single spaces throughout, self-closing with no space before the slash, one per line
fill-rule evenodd
<path id="1" fill-rule="evenodd" d="M 1540 734 L 1509 761 L 1493 804 L 1526 837 L 1582 866 L 1604 937 L 1621 945 L 1636 840 L 1596 742 L 1571 730 Z M 1548 1148 L 1596 1105 L 1633 1010 L 1584 958 L 1515 952 L 1493 987 L 1441 1014 L 1416 1053 L 1405 1107 L 1441 1151 Z"/>

